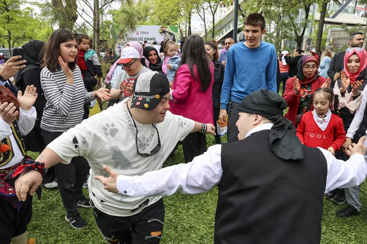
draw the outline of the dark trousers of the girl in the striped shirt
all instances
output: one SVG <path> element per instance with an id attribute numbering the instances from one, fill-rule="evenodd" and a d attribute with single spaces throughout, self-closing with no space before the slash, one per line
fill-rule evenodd
<path id="1" fill-rule="evenodd" d="M 49 132 L 42 129 L 42 136 L 46 144 L 51 143 L 63 132 Z M 83 184 L 89 172 L 87 159 L 81 156 L 73 157 L 70 164 L 58 163 L 54 166 L 57 184 L 59 186 L 62 203 L 66 211 L 76 214 L 77 201 L 83 199 Z"/>

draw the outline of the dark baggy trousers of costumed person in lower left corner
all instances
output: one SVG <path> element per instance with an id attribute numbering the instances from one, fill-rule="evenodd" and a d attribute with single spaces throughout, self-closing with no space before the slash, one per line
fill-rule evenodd
<path id="1" fill-rule="evenodd" d="M 17 179 L 18 177 L 15 177 L 6 182 L 14 187 Z M 25 233 L 30 219 L 32 219 L 32 196 L 29 193 L 27 193 L 27 200 L 22 202 L 19 211 L 0 197 L 0 243 L 9 244 L 12 237 Z"/>

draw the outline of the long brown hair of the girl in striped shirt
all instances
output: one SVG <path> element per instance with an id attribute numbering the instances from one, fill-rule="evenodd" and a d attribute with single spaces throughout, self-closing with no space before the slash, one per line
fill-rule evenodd
<path id="1" fill-rule="evenodd" d="M 60 56 L 60 44 L 70 40 L 75 40 L 75 37 L 73 33 L 68 30 L 59 29 L 52 32 L 43 49 L 44 55 L 41 63 L 41 68 L 47 67 L 48 70 L 50 70 L 51 72 L 56 72 L 57 70 L 59 70 L 61 68 L 58 60 Z M 77 55 L 75 56 L 74 62 L 69 63 L 70 70 L 75 70 L 76 62 Z"/>

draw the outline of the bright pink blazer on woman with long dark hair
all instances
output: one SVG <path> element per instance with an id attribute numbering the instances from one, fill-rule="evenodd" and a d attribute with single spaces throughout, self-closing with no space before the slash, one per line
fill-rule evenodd
<path id="1" fill-rule="evenodd" d="M 209 64 L 211 73 L 210 87 L 206 92 L 200 91 L 200 83 L 190 74 L 187 64 L 179 67 L 172 84 L 172 98 L 170 111 L 174 115 L 181 115 L 200 123 L 213 123 L 212 86 L 214 83 L 214 66 Z M 194 66 L 194 74 L 200 79 Z"/>

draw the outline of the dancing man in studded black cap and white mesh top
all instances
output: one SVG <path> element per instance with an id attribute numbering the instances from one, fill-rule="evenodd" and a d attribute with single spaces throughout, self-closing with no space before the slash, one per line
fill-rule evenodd
<path id="1" fill-rule="evenodd" d="M 146 72 L 134 82 L 133 95 L 94 115 L 48 144 L 36 161 L 46 168 L 84 156 L 91 167 L 88 179 L 91 206 L 103 237 L 111 244 L 159 243 L 163 231 L 161 197 L 131 197 L 104 189 L 98 179 L 109 174 L 135 176 L 162 168 L 179 140 L 190 132 L 214 132 L 214 125 L 172 115 L 170 86 L 165 75 Z M 103 167 L 104 165 L 107 165 Z M 33 172 L 32 172 L 33 171 Z M 19 199 L 32 195 L 42 176 L 32 170 L 19 177 Z M 95 179 L 97 178 L 97 179 Z"/>

